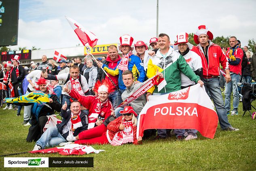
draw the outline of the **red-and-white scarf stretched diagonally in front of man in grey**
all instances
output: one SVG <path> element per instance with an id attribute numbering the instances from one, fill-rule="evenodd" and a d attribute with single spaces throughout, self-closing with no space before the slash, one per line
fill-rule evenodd
<path id="1" fill-rule="evenodd" d="M 127 104 L 131 103 L 131 101 L 138 99 L 141 95 L 146 93 L 152 86 L 154 85 L 160 85 L 163 84 L 161 87 L 164 87 L 166 84 L 165 81 L 163 81 L 163 78 L 160 78 L 159 76 L 155 75 L 152 78 L 148 79 L 144 82 L 143 86 L 140 87 L 137 91 L 135 91 L 130 97 L 128 97 L 125 101 L 123 101 L 118 107 L 124 107 L 127 106 Z M 159 87 L 158 87 L 159 88 Z M 160 91 L 160 89 L 159 89 Z"/>

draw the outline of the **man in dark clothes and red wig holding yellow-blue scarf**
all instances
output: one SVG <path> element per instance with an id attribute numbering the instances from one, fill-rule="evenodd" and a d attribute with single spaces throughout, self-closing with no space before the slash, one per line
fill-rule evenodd
<path id="1" fill-rule="evenodd" d="M 37 141 L 41 135 L 44 133 L 43 128 L 48 121 L 47 116 L 54 114 L 54 111 L 61 111 L 61 103 L 59 103 L 59 99 L 57 95 L 53 94 L 53 87 L 51 83 L 44 79 L 40 78 L 38 82 L 36 82 L 36 90 L 42 91 L 43 93 L 49 96 L 49 102 L 44 104 L 40 103 L 32 103 L 31 107 L 31 126 L 28 129 L 27 141 L 32 142 Z M 31 103 L 15 103 L 18 106 L 29 106 Z"/>

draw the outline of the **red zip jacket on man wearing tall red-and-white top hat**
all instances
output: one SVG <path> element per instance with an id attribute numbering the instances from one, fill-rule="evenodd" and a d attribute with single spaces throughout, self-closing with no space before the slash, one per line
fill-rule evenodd
<path id="1" fill-rule="evenodd" d="M 224 70 L 229 69 L 228 58 L 222 51 L 219 45 L 209 42 L 209 48 L 207 51 L 208 63 L 205 58 L 202 46 L 198 44 L 193 46 L 192 51 L 197 53 L 202 60 L 203 64 L 203 78 L 212 78 L 220 75 L 220 63 Z"/>

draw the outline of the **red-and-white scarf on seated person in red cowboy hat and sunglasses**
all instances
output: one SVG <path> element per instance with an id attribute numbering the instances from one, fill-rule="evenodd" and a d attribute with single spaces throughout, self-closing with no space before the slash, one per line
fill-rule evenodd
<path id="1" fill-rule="evenodd" d="M 112 146 L 121 146 L 122 144 L 126 144 L 129 142 L 133 142 L 133 124 L 131 121 L 123 122 L 125 125 L 125 129 L 122 131 L 118 131 L 113 140 L 111 141 Z"/>

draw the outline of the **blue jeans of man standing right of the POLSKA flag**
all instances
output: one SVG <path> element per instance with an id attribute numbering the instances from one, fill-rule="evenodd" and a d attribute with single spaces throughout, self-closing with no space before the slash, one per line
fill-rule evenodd
<path id="1" fill-rule="evenodd" d="M 212 100 L 214 102 L 214 106 L 216 108 L 216 112 L 218 114 L 220 128 L 226 129 L 230 127 L 230 123 L 228 122 L 228 116 L 226 115 L 226 109 L 223 102 L 223 97 L 220 90 L 220 81 L 218 77 L 214 78 L 203 78 L 203 83 L 205 87 L 205 91 L 210 93 Z"/>

